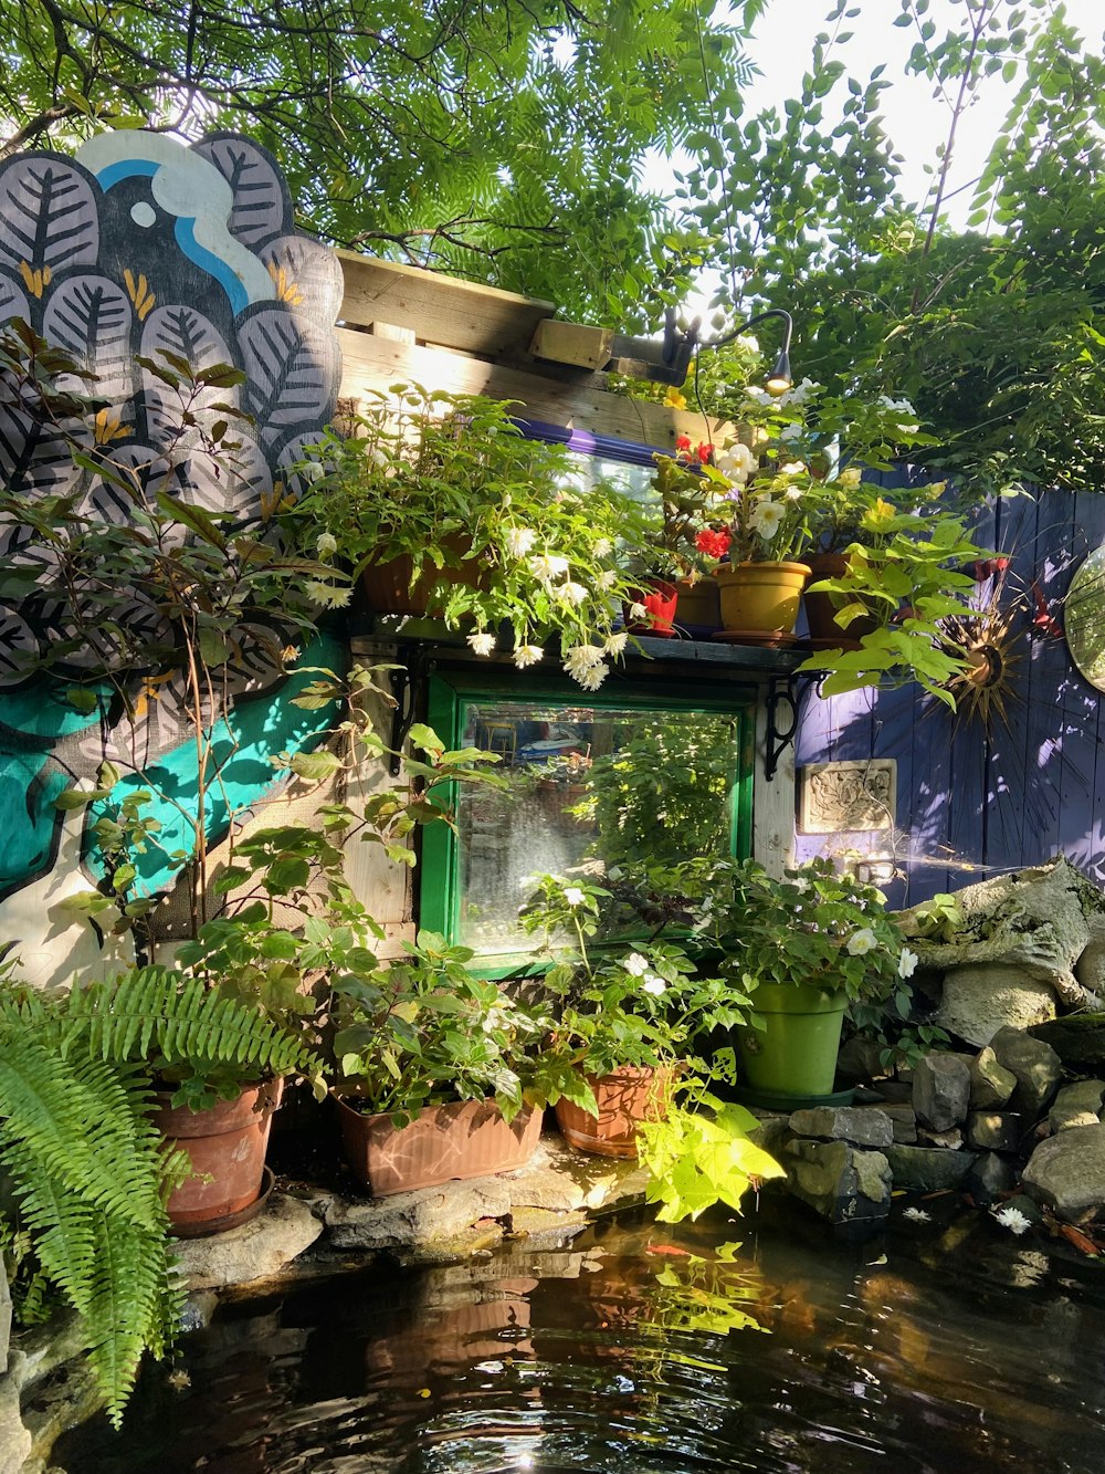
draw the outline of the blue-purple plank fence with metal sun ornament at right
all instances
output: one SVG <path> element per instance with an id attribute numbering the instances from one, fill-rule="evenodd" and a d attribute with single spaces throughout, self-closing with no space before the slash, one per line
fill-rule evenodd
<path id="1" fill-rule="evenodd" d="M 1105 884 L 1102 693 L 1080 675 L 1061 632 L 1071 576 L 1105 542 L 1105 495 L 1002 500 L 980 514 L 977 541 L 1012 560 L 1003 601 L 1022 604 L 1005 721 L 968 724 L 916 685 L 831 699 L 810 693 L 803 706 L 799 765 L 897 761 L 897 825 L 893 836 L 799 836 L 799 856 L 849 843 L 893 852 L 906 874 L 887 887 L 896 905 L 1059 850 Z M 986 591 L 981 584 L 980 597 Z M 1046 628 L 1048 616 L 1058 632 Z"/>

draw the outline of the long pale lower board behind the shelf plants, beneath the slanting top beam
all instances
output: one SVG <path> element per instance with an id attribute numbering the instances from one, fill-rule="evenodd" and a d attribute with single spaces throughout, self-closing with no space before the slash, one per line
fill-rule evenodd
<path id="1" fill-rule="evenodd" d="M 580 371 L 570 379 L 551 379 L 533 370 L 507 368 L 443 348 L 410 346 L 351 329 L 339 329 L 337 339 L 345 366 L 343 399 L 367 398 L 393 383 L 417 383 L 449 394 L 517 399 L 535 420 L 662 450 L 673 450 L 678 435 L 690 435 L 695 445 L 735 439 L 735 430 L 723 420 L 610 394 L 601 374 Z"/>

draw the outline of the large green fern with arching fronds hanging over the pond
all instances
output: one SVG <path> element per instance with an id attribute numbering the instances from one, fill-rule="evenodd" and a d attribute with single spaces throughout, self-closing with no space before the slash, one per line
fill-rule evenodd
<path id="1" fill-rule="evenodd" d="M 0 982 L 0 1172 L 29 1306 L 43 1282 L 84 1324 L 119 1424 L 138 1361 L 172 1338 L 183 1297 L 165 1198 L 187 1172 L 150 1119 L 149 1063 L 202 1057 L 242 1076 L 317 1075 L 304 1044 L 256 1008 L 164 967 L 46 996 Z M 15 1256 L 13 1256 L 15 1257 Z M 29 1260 L 29 1263 L 28 1263 Z"/>

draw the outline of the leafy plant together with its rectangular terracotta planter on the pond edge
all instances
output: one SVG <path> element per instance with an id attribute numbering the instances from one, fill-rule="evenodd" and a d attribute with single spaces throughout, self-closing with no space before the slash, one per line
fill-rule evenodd
<path id="1" fill-rule="evenodd" d="M 548 1019 L 476 977 L 471 957 L 420 932 L 392 963 L 333 979 L 342 1141 L 377 1197 L 507 1172 L 536 1148 L 526 1073 Z"/>

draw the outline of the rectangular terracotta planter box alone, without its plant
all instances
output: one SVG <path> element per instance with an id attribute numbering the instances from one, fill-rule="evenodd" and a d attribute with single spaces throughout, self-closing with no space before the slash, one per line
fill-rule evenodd
<path id="1" fill-rule="evenodd" d="M 345 1160 L 374 1197 L 482 1178 L 525 1166 L 541 1138 L 542 1113 L 523 1110 L 507 1123 L 494 1100 L 426 1106 L 408 1126 L 362 1116 L 339 1097 Z"/>

